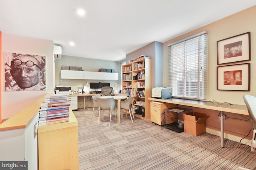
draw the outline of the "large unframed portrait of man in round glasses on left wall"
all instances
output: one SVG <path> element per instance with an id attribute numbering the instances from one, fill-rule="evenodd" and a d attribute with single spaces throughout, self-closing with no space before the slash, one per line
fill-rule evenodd
<path id="1" fill-rule="evenodd" d="M 4 91 L 46 90 L 45 56 L 4 52 Z"/>

